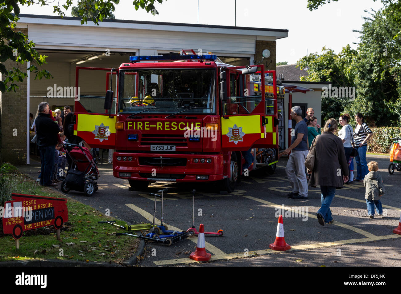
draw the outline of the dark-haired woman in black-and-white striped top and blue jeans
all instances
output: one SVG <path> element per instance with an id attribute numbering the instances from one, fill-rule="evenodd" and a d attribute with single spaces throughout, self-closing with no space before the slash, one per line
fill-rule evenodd
<path id="1" fill-rule="evenodd" d="M 368 140 L 371 136 L 373 136 L 373 132 L 365 124 L 365 119 L 363 115 L 357 113 L 355 116 L 356 127 L 354 130 L 354 140 L 355 140 L 355 148 L 358 150 L 358 156 L 355 157 L 356 160 L 356 180 L 358 182 L 363 182 L 365 176 L 369 173 L 368 165 L 366 162 L 366 150 L 368 147 Z"/>

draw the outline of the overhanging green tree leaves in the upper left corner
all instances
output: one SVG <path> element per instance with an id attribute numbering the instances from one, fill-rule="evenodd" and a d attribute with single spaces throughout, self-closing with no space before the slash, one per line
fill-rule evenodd
<path id="1" fill-rule="evenodd" d="M 132 5 L 138 10 L 142 8 L 153 15 L 159 14 L 154 7 L 155 2 L 162 3 L 163 0 L 133 0 Z M 165 0 L 166 1 L 166 0 Z M 34 79 L 51 78 L 50 72 L 40 69 L 46 63 L 47 56 L 39 54 L 35 49 L 32 40 L 28 36 L 18 31 L 16 23 L 20 19 L 21 6 L 40 4 L 41 6 L 53 6 L 53 12 L 61 18 L 65 16 L 70 8 L 72 9 L 73 0 L 66 0 L 65 4 L 59 5 L 54 0 L 0 0 L 0 91 L 12 91 L 18 88 L 18 82 L 23 82 L 27 74 L 20 66 L 28 61 L 31 65 L 27 68 L 35 74 Z M 53 5 L 57 3 L 57 5 Z M 88 19 L 93 23 L 103 21 L 105 18 L 112 18 L 114 5 L 119 4 L 119 0 L 78 0 L 78 16 L 81 17 L 81 24 L 87 23 Z M 87 9 L 84 9 L 87 8 Z M 16 62 L 16 66 L 7 69 L 4 64 L 7 60 Z M 38 68 L 39 67 L 39 68 Z"/>

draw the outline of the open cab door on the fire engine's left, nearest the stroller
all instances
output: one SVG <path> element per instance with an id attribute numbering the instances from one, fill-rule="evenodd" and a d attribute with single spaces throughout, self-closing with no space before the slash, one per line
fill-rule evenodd
<path id="1" fill-rule="evenodd" d="M 79 96 L 75 97 L 74 135 L 79 136 L 92 148 L 115 146 L 115 122 L 117 118 L 118 70 L 111 68 L 76 68 L 75 85 Z M 112 78 L 111 78 L 112 77 Z M 104 109 L 105 93 L 113 90 L 111 110 Z M 104 83 L 104 84 L 103 84 Z"/>

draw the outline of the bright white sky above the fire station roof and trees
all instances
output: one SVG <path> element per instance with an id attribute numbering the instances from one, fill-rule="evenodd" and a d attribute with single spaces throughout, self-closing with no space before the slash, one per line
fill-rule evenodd
<path id="1" fill-rule="evenodd" d="M 47 7 L 22 6 L 20 13 L 54 15 L 51 6 L 57 3 L 64 1 L 55 0 Z M 321 53 L 323 46 L 335 53 L 347 44 L 355 49 L 352 43 L 358 42 L 359 33 L 352 30 L 360 30 L 362 16 L 369 16 L 364 10 L 383 6 L 380 0 L 338 0 L 314 11 L 306 5 L 307 0 L 164 0 L 156 2 L 159 14 L 153 16 L 141 8 L 136 11 L 132 0 L 120 0 L 114 15 L 123 20 L 287 29 L 288 37 L 277 40 L 276 61 L 294 64 L 309 53 Z M 71 9 L 65 16 L 71 16 Z"/>

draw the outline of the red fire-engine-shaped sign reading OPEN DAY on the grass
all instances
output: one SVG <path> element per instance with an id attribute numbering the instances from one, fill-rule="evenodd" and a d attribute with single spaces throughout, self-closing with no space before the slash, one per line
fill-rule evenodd
<path id="1" fill-rule="evenodd" d="M 68 221 L 67 199 L 14 193 L 12 199 L 4 204 L 3 231 L 15 239 L 36 228 L 60 229 Z"/>

